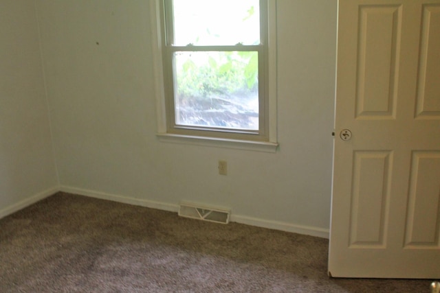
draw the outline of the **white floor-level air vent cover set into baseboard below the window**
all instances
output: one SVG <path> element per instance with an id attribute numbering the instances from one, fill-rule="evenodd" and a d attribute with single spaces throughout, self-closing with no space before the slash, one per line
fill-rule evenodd
<path id="1" fill-rule="evenodd" d="M 185 218 L 228 224 L 230 211 L 213 209 L 212 207 L 203 207 L 198 204 L 181 203 L 179 215 Z"/>

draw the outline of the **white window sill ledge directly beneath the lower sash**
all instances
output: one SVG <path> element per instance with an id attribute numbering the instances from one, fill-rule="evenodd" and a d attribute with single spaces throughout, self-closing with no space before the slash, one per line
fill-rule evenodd
<path id="1" fill-rule="evenodd" d="M 276 152 L 278 143 L 267 141 L 243 141 L 236 139 L 219 139 L 214 137 L 195 137 L 190 135 L 157 133 L 159 141 L 167 143 L 184 143 L 214 148 L 232 148 L 236 150 L 252 150 L 256 152 Z"/>

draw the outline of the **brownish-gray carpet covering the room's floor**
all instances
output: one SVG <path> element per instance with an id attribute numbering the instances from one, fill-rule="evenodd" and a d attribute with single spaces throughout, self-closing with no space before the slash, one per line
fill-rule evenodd
<path id="1" fill-rule="evenodd" d="M 429 292 L 331 279 L 328 240 L 58 193 L 0 220 L 0 292 Z"/>

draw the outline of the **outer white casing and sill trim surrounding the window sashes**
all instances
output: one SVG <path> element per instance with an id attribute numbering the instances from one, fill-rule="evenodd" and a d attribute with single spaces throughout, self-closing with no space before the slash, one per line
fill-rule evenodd
<path id="1" fill-rule="evenodd" d="M 184 132 L 174 132 L 168 128 L 170 121 L 167 115 L 165 97 L 165 78 L 164 78 L 164 24 L 162 23 L 162 13 L 164 0 L 151 1 L 151 36 L 153 45 L 153 70 L 155 73 L 155 97 L 157 110 L 157 136 L 160 141 L 191 143 L 197 145 L 211 145 L 222 148 L 240 148 L 250 150 L 262 150 L 275 152 L 278 147 L 276 134 L 276 0 L 267 1 L 267 54 L 264 66 L 268 75 L 265 78 L 263 89 L 265 91 L 265 132 L 263 139 L 251 139 L 249 134 L 224 136 L 224 132 L 219 130 L 208 130 L 208 134 L 201 135 L 201 130 L 185 129 Z M 196 47 L 196 46 L 194 46 Z M 202 47 L 202 46 L 197 46 Z M 179 47 L 181 48 L 181 47 Z M 186 47 L 183 47 L 186 48 Z M 191 50 L 188 48 L 188 50 Z M 261 115 L 261 114 L 260 114 Z M 260 137 L 260 136 L 259 136 Z"/>

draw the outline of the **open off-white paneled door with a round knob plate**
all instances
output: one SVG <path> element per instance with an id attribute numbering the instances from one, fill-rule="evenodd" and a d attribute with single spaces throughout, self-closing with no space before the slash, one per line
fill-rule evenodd
<path id="1" fill-rule="evenodd" d="M 335 130 L 329 274 L 440 279 L 440 0 L 339 0 Z"/>

